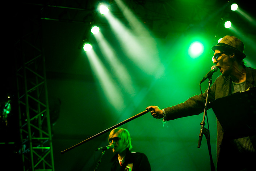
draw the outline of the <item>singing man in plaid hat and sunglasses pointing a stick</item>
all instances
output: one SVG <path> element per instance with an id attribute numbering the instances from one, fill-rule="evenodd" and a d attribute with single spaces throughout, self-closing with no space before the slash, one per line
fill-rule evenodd
<path id="1" fill-rule="evenodd" d="M 244 65 L 243 59 L 246 56 L 244 44 L 240 39 L 226 35 L 211 49 L 214 51 L 213 63 L 220 69 L 221 75 L 210 87 L 208 102 L 238 91 L 245 91 L 249 87 L 256 87 L 256 69 Z M 172 107 L 161 110 L 158 106 L 148 106 L 146 110 L 150 111 L 153 117 L 163 118 L 163 122 L 198 115 L 204 111 L 206 95 L 207 90 Z M 255 170 L 256 134 L 235 140 L 226 137 L 217 119 L 217 171 Z"/>

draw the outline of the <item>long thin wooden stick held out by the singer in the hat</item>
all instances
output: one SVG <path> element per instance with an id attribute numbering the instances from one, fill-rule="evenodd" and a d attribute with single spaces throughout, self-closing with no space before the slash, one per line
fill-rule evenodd
<path id="1" fill-rule="evenodd" d="M 66 153 L 67 151 L 70 151 L 70 150 L 76 148 L 77 146 L 80 146 L 80 145 L 84 144 L 85 142 L 88 142 L 88 141 L 90 141 L 90 140 L 92 140 L 92 139 L 94 139 L 94 138 L 96 138 L 96 137 L 98 137 L 98 136 L 100 136 L 100 135 L 102 135 L 102 134 L 104 134 L 104 133 L 106 133 L 106 132 L 108 132 L 108 131 L 111 131 L 111 130 L 114 129 L 114 128 L 117 128 L 117 127 L 119 127 L 120 125 L 123 125 L 123 124 L 125 124 L 125 123 L 127 123 L 127 122 L 129 122 L 129 121 L 131 121 L 131 120 L 134 120 L 134 119 L 136 119 L 137 117 L 140 117 L 140 116 L 142 116 L 142 115 L 144 115 L 144 114 L 146 114 L 146 113 L 147 113 L 146 110 L 143 111 L 143 112 L 140 112 L 139 114 L 134 115 L 133 117 L 130 117 L 129 119 L 126 119 L 126 120 L 120 122 L 119 124 L 116 124 L 116 125 L 114 125 L 113 127 L 110 127 L 110 128 L 108 128 L 108 129 L 106 129 L 105 131 L 102 131 L 102 132 L 100 132 L 100 133 L 98 133 L 98 134 L 96 134 L 96 135 L 94 135 L 94 136 L 92 136 L 92 137 L 90 137 L 90 138 L 88 138 L 88 139 L 86 139 L 86 140 L 84 140 L 84 141 L 82 141 L 82 142 L 80 142 L 80 143 L 78 143 L 78 144 L 76 144 L 76 145 L 74 145 L 74 146 L 72 146 L 72 147 L 66 149 L 66 150 L 61 151 L 60 153 L 61 153 L 61 154 L 64 154 L 64 153 Z"/>

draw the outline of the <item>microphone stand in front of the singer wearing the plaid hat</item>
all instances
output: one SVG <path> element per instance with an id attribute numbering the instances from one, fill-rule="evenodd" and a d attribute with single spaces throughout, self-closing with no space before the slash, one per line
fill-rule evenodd
<path id="1" fill-rule="evenodd" d="M 207 104 L 208 104 L 208 96 L 209 96 L 212 81 L 213 81 L 213 79 L 210 77 L 209 82 L 208 82 L 209 87 L 208 87 L 207 94 L 206 94 L 205 110 L 203 111 L 203 120 L 200 123 L 201 129 L 200 129 L 200 133 L 199 133 L 199 140 L 198 140 L 197 148 L 201 147 L 202 137 L 203 137 L 203 134 L 204 134 L 205 138 L 206 138 L 206 141 L 207 141 L 208 151 L 209 151 L 209 155 L 210 155 L 211 171 L 215 171 L 215 166 L 214 166 L 214 163 L 213 163 L 213 157 L 211 155 L 210 133 L 209 133 L 209 130 L 204 127 L 205 126 L 205 116 L 207 115 L 206 110 L 207 110 Z"/>

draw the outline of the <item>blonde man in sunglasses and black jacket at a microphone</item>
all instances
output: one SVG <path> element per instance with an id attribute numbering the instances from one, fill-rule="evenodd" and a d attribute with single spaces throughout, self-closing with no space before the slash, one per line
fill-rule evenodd
<path id="1" fill-rule="evenodd" d="M 131 152 L 131 136 L 124 128 L 115 128 L 109 134 L 109 145 L 114 145 L 111 171 L 151 171 L 145 154 Z"/>

